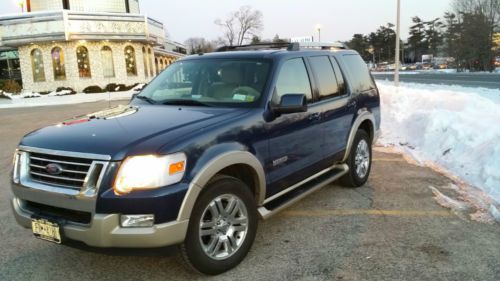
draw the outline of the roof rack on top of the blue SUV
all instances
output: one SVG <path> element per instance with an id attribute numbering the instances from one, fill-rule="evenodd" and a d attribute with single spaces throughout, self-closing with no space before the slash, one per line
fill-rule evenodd
<path id="1" fill-rule="evenodd" d="M 327 43 L 327 42 L 307 42 L 307 43 L 256 43 L 240 46 L 223 46 L 218 48 L 217 52 L 229 51 L 256 51 L 256 50 L 272 50 L 272 49 L 286 49 L 287 51 L 299 51 L 301 49 L 320 49 L 320 50 L 344 50 L 347 46 L 344 43 Z"/>

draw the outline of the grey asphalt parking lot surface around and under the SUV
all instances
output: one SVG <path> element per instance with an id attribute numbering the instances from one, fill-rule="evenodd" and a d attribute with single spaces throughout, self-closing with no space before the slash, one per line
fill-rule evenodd
<path id="1" fill-rule="evenodd" d="M 107 103 L 0 110 L 0 280 L 194 280 L 175 253 L 110 255 L 33 238 L 11 214 L 12 152 L 38 127 Z M 261 222 L 236 269 L 211 280 L 500 280 L 500 227 L 457 216 L 450 179 L 375 152 L 367 185 L 330 185 Z M 473 210 L 472 210 L 473 211 Z"/>

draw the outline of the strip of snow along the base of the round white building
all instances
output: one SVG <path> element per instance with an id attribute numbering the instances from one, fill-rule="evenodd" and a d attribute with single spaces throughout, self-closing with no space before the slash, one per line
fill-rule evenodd
<path id="1" fill-rule="evenodd" d="M 51 92 L 47 95 L 40 95 L 39 93 L 23 92 L 19 95 L 12 95 L 4 93 L 10 99 L 0 99 L 1 108 L 15 108 L 15 107 L 33 107 L 33 106 L 48 106 L 48 105 L 63 105 L 63 104 L 76 104 L 83 102 L 95 102 L 101 100 L 124 100 L 130 99 L 132 94 L 137 93 L 144 85 L 140 84 L 130 91 L 125 92 L 112 92 L 112 93 L 99 93 L 99 94 L 84 94 L 77 93 L 75 95 L 68 95 L 70 91 L 63 90 L 61 92 Z"/>

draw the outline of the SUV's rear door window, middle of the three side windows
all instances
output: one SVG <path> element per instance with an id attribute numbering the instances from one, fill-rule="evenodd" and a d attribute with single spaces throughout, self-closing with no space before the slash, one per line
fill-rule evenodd
<path id="1" fill-rule="evenodd" d="M 321 56 L 311 57 L 309 61 L 318 79 L 319 99 L 323 100 L 338 96 L 339 87 L 330 59 L 327 56 Z"/>

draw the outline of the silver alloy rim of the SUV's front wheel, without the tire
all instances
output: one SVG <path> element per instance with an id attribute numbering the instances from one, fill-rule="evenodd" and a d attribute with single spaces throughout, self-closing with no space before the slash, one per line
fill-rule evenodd
<path id="1" fill-rule="evenodd" d="M 245 241 L 247 232 L 247 208 L 234 194 L 218 196 L 203 211 L 200 242 L 205 254 L 212 259 L 231 257 Z"/>

